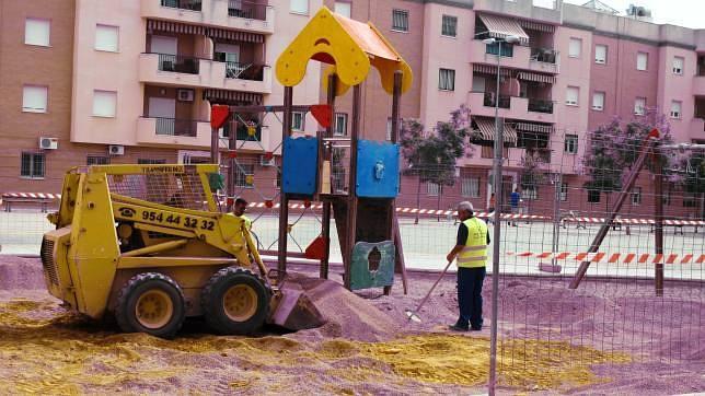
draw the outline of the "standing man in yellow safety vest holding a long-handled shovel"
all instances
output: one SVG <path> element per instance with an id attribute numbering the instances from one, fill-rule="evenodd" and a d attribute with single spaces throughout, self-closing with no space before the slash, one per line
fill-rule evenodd
<path id="1" fill-rule="evenodd" d="M 458 306 L 460 316 L 454 331 L 482 330 L 483 327 L 483 281 L 487 263 L 489 232 L 484 221 L 473 216 L 473 205 L 463 201 L 458 205 L 458 228 L 455 247 L 446 257 L 448 261 L 458 258 Z"/>

